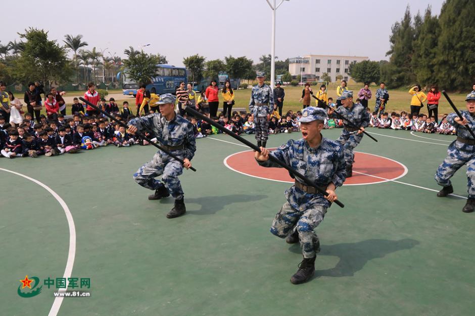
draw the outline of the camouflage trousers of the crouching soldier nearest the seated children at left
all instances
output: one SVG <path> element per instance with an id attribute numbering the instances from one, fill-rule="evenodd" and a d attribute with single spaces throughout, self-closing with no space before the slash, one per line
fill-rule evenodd
<path id="1" fill-rule="evenodd" d="M 179 154 L 175 153 L 179 156 Z M 179 156 L 182 158 L 181 156 Z M 157 152 L 152 161 L 140 167 L 133 174 L 134 180 L 144 188 L 156 190 L 165 185 L 168 192 L 175 198 L 183 198 L 183 190 L 181 189 L 178 176 L 183 173 L 183 166 L 180 162 L 174 160 L 169 155 Z M 162 176 L 162 182 L 155 177 Z"/>

